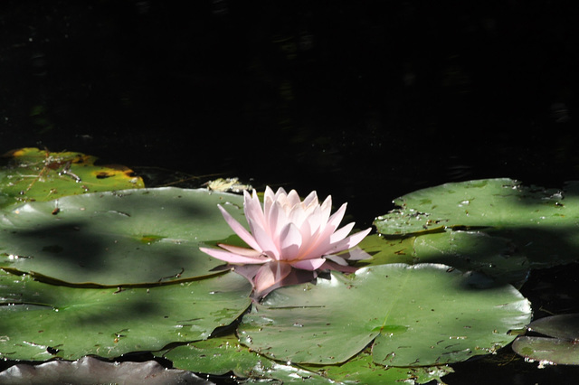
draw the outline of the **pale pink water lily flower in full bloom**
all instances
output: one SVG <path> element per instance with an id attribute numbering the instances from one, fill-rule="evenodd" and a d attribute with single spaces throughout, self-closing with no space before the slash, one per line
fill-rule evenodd
<path id="1" fill-rule="evenodd" d="M 246 230 L 221 205 L 223 218 L 251 249 L 218 244 L 221 249 L 200 248 L 204 253 L 222 259 L 247 277 L 255 296 L 265 296 L 274 288 L 304 282 L 317 277 L 319 269 L 353 272 L 346 259 L 369 257 L 354 248 L 371 228 L 348 236 L 354 222 L 337 230 L 344 218 L 346 203 L 330 215 L 332 198 L 318 203 L 317 193 L 310 192 L 301 201 L 298 192 L 266 187 L 263 208 L 257 192 L 244 191 L 243 211 L 249 223 Z M 336 255 L 341 251 L 349 252 Z"/>

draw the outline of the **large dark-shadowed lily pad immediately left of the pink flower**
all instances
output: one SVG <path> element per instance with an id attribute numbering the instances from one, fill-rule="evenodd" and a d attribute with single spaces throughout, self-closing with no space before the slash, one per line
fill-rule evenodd
<path id="1" fill-rule="evenodd" d="M 199 250 L 244 222 L 242 197 L 205 189 L 136 189 L 30 202 L 0 214 L 0 268 L 74 284 L 153 284 L 218 274 Z M 58 214 L 53 214 L 58 207 Z"/>

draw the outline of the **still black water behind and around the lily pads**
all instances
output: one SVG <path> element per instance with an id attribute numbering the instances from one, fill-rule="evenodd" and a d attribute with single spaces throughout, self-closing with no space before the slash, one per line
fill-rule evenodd
<path id="1" fill-rule="evenodd" d="M 577 179 L 574 2 L 248 3 L 3 1 L 0 151 L 315 189 L 349 202 L 360 226 L 440 183 Z M 536 309 L 578 310 L 567 271 L 531 277 L 557 277 L 524 288 Z M 444 380 L 579 374 L 499 356 L 512 362 L 456 365 Z"/>

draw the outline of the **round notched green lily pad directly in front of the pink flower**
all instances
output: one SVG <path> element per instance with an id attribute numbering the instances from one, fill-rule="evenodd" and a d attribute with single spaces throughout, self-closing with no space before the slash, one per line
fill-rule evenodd
<path id="1" fill-rule="evenodd" d="M 496 351 L 530 316 L 513 286 L 444 265 L 390 264 L 282 287 L 243 316 L 238 333 L 284 362 L 346 362 L 374 341 L 376 363 L 432 366 Z"/>

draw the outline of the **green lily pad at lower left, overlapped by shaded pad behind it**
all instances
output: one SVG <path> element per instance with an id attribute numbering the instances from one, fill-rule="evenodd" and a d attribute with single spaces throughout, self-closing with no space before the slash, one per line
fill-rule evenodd
<path id="1" fill-rule="evenodd" d="M 0 271 L 0 357 L 75 360 L 203 340 L 251 304 L 237 274 L 150 288 L 52 286 Z"/>

